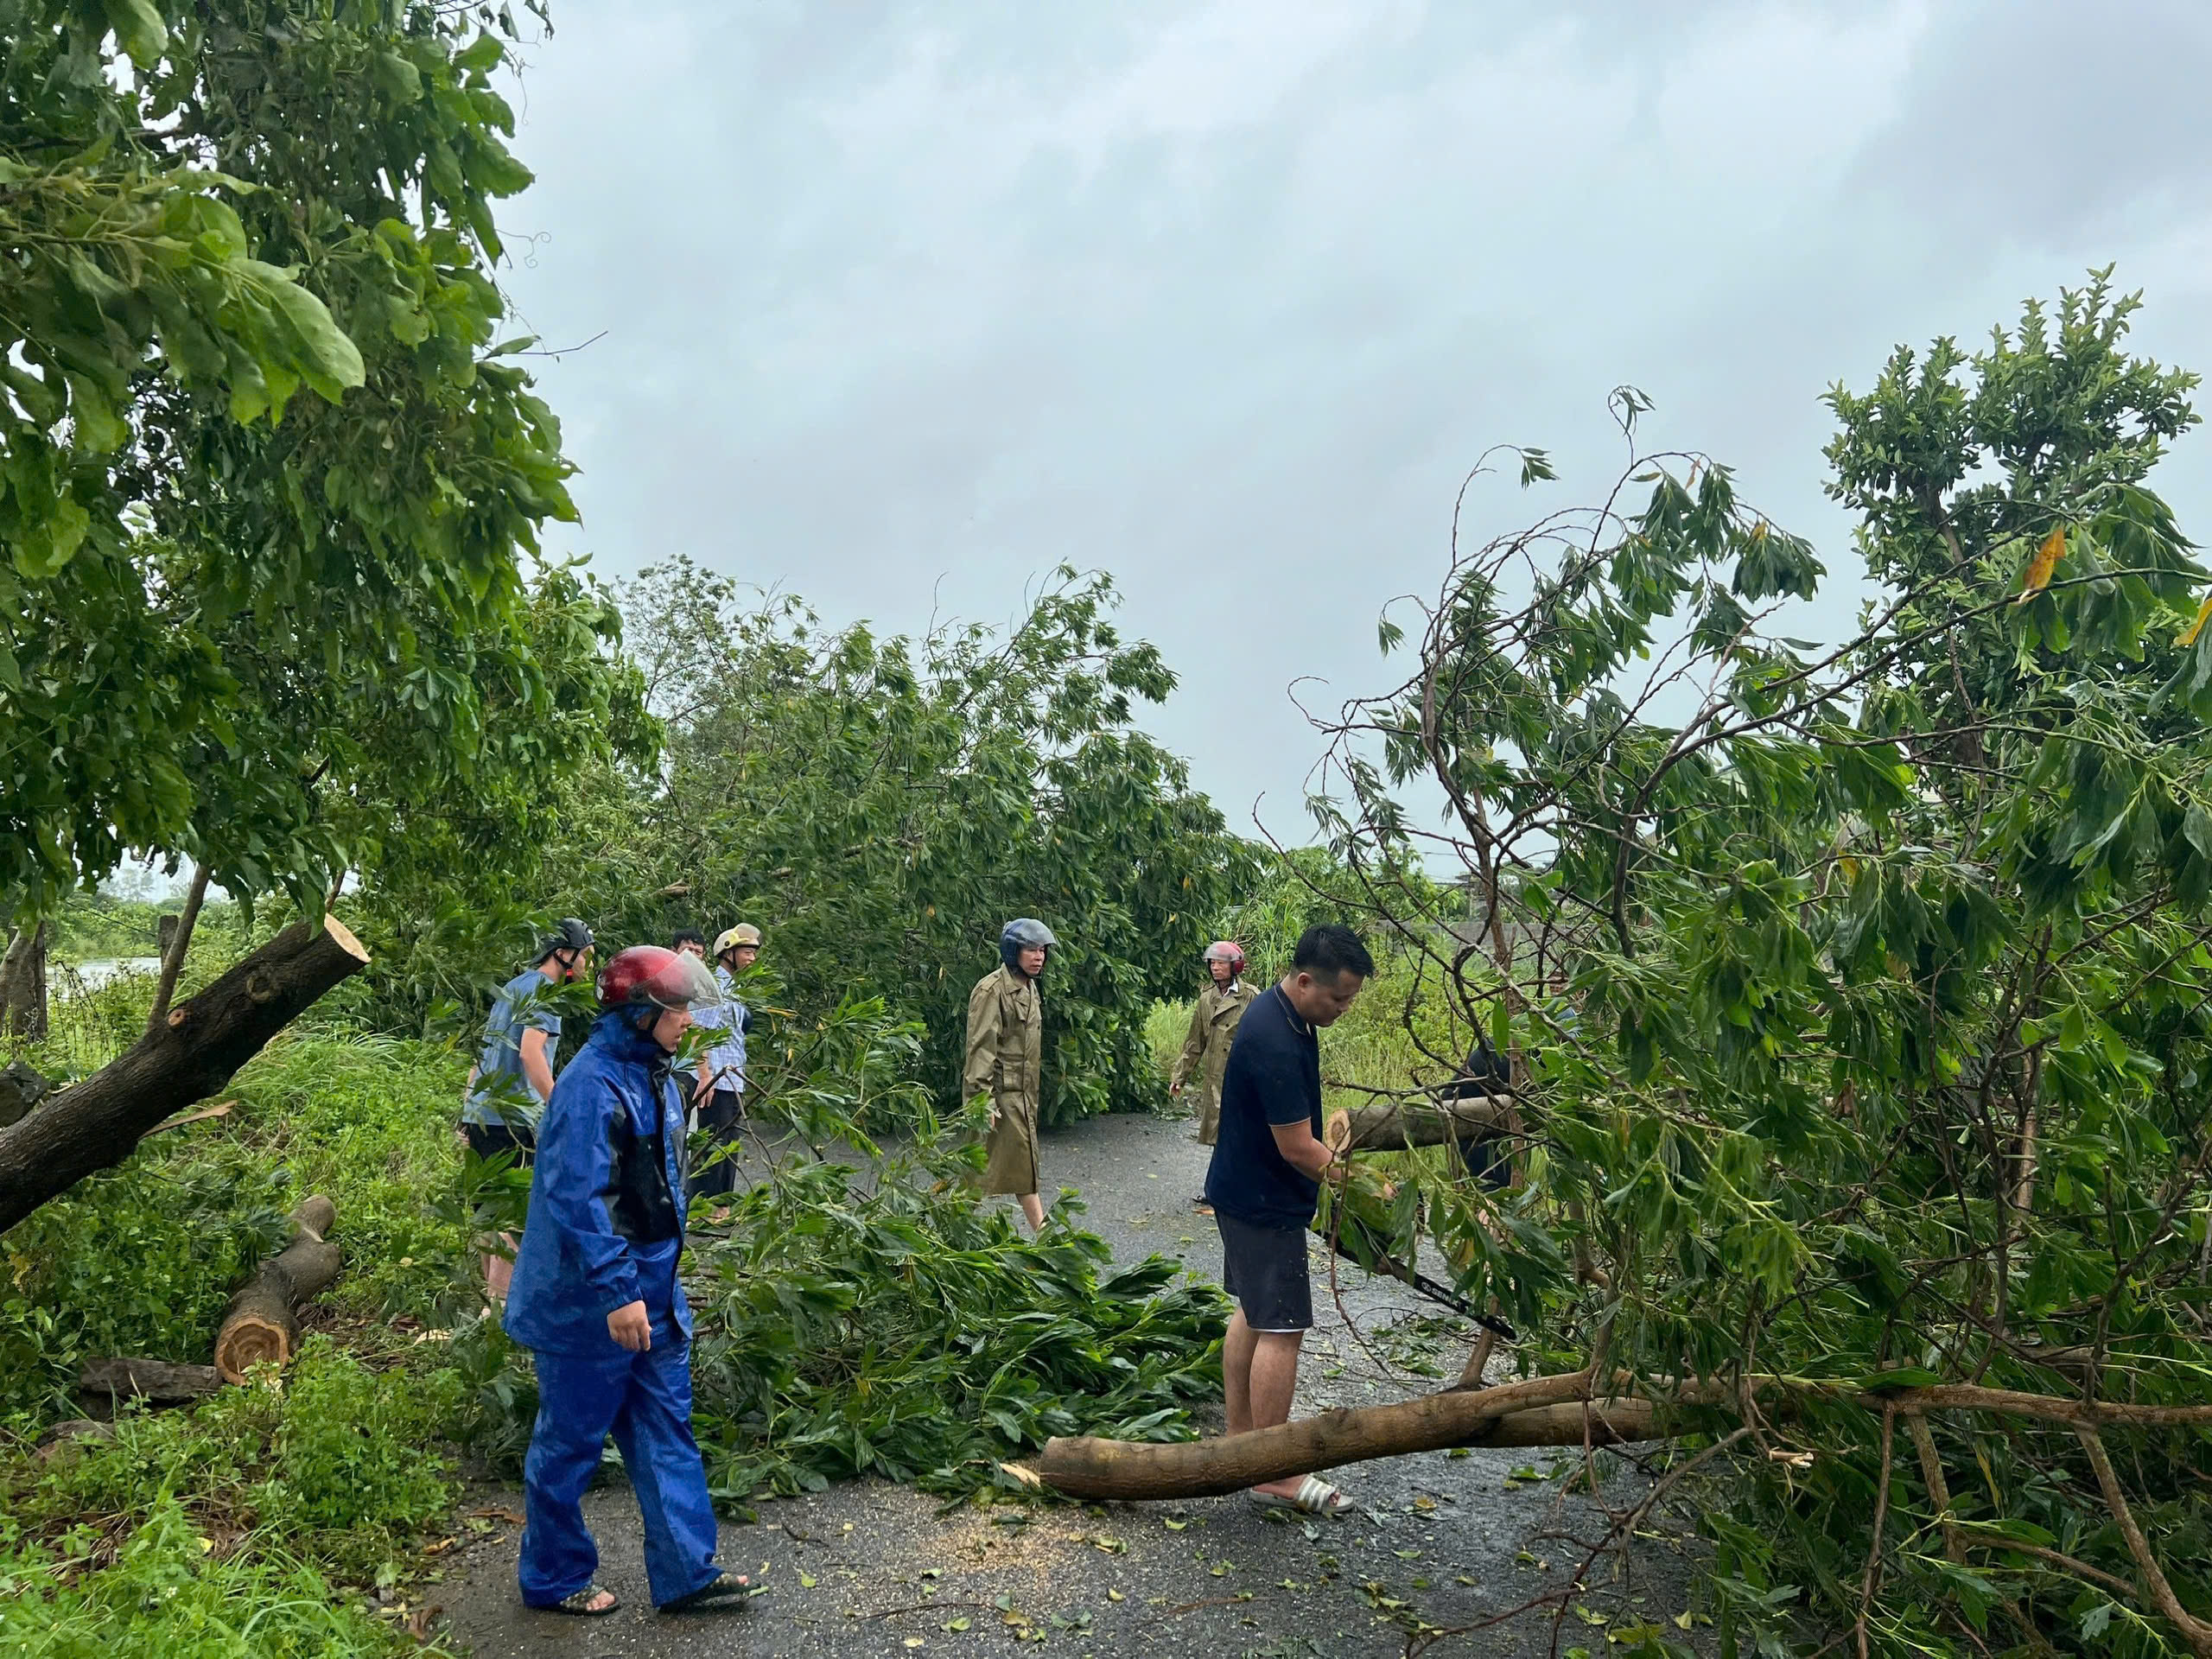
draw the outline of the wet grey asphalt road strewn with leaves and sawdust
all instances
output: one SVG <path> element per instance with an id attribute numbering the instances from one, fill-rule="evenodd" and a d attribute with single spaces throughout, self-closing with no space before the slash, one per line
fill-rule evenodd
<path id="1" fill-rule="evenodd" d="M 1093 1119 L 1044 1141 L 1046 1183 L 1082 1192 L 1086 1223 L 1119 1259 L 1179 1256 L 1219 1279 L 1221 1241 L 1190 1197 L 1206 1150 L 1190 1124 Z M 1438 1387 L 1405 1369 L 1427 1358 L 1458 1374 L 1469 1338 L 1391 1281 L 1345 1265 L 1338 1294 L 1316 1241 L 1316 1314 L 1296 1411 L 1380 1405 Z M 1407 1323 L 1422 1321 L 1422 1323 Z M 1219 1427 L 1219 1422 L 1208 1425 Z M 1566 1464 L 1562 1464 L 1564 1473 Z M 619 1480 L 586 1511 L 602 1582 L 624 1597 L 608 1619 L 531 1613 L 515 1599 L 518 1493 L 471 1504 L 447 1582 L 429 1586 L 449 1639 L 480 1659 L 599 1655 L 980 1655 L 1044 1646 L 1064 1655 L 1604 1655 L 1608 1632 L 1663 1624 L 1686 1606 L 1686 1559 L 1639 1544 L 1575 1588 L 1604 1531 L 1586 1486 L 1564 1491 L 1528 1451 L 1422 1453 L 1352 1464 L 1334 1480 L 1365 1513 L 1347 1520 L 1263 1515 L 1241 1495 L 1177 1504 L 960 1506 L 883 1482 L 770 1502 L 752 1524 L 723 1524 L 721 1559 L 765 1595 L 743 1610 L 650 1610 L 637 1506 Z M 1626 1506 L 1644 1478 L 1617 1467 L 1604 1498 Z M 1537 1597 L 1542 1608 L 1491 1624 Z M 1555 1630 L 1553 1615 L 1564 1615 Z M 1460 1635 L 1431 1637 L 1438 1630 Z M 1701 1635 L 1701 1632 L 1699 1632 Z M 1699 1641 L 1699 1646 L 1703 1646 Z"/>

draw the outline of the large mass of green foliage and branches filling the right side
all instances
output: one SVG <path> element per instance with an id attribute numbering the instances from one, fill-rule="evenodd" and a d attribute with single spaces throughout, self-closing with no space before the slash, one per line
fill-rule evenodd
<path id="1" fill-rule="evenodd" d="M 2099 274 L 1834 394 L 1889 584 L 1840 648 L 1776 630 L 1809 544 L 1639 456 L 1464 553 L 1338 732 L 1422 1018 L 1520 1062 L 1524 1188 L 1391 1223 L 1535 1354 L 1732 1400 L 1728 1652 L 2212 1650 L 2212 1438 L 2126 1420 L 2212 1376 L 2212 604 L 2148 487 L 2194 376 L 2132 307 Z"/>

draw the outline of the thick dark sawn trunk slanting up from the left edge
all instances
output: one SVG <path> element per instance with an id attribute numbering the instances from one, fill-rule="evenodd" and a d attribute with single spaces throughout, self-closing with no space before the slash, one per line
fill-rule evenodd
<path id="1" fill-rule="evenodd" d="M 86 1175 L 122 1164 L 146 1130 L 217 1093 L 270 1037 L 367 960 L 361 940 L 336 918 L 294 922 L 170 1009 L 159 1031 L 139 1037 L 113 1064 L 0 1128 L 0 1232 Z"/>

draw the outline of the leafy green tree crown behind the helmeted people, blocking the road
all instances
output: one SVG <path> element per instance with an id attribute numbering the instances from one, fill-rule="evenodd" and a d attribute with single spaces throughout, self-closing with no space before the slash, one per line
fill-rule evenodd
<path id="1" fill-rule="evenodd" d="M 880 995 L 920 1018 L 922 1075 L 947 1102 L 998 929 L 1040 916 L 1062 940 L 1046 1119 L 1159 1088 L 1144 1011 L 1190 993 L 1256 858 L 1137 730 L 1175 677 L 1121 637 L 1106 577 L 1062 568 L 1009 633 L 920 639 L 825 630 L 799 599 L 757 602 L 681 560 L 635 591 L 666 763 L 575 787 L 549 911 L 611 940 L 757 922 L 787 1006 Z"/>

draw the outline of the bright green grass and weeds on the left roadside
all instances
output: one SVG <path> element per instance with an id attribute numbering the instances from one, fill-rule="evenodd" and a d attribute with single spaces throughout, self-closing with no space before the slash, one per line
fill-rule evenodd
<path id="1" fill-rule="evenodd" d="M 195 951 L 184 989 L 219 956 Z M 153 995 L 142 973 L 75 995 L 71 978 L 24 1055 L 60 1079 L 135 1042 Z M 0 1652 L 422 1650 L 383 1601 L 451 1511 L 473 1398 L 451 1345 L 389 1321 L 429 1321 L 469 1283 L 462 1075 L 436 1046 L 294 1026 L 239 1073 L 228 1117 L 150 1137 L 0 1237 Z M 27 1455 L 42 1422 L 75 1416 L 84 1358 L 208 1360 L 232 1287 L 307 1192 L 334 1199 L 345 1250 L 316 1323 L 345 1325 L 354 1352 L 310 1336 L 281 1385 Z"/>

